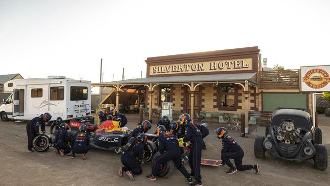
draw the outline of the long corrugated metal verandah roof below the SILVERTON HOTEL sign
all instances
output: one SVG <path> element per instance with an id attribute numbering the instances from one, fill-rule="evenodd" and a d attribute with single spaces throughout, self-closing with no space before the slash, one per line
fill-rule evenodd
<path id="1" fill-rule="evenodd" d="M 147 77 L 137 79 L 127 79 L 122 81 L 111 81 L 104 83 L 92 83 L 94 86 L 105 86 L 113 84 L 147 84 L 147 83 L 181 83 L 181 82 L 228 82 L 245 81 L 256 82 L 256 73 L 237 73 L 237 74 L 211 74 L 211 75 L 192 75 L 192 76 L 168 76 L 168 77 Z"/>

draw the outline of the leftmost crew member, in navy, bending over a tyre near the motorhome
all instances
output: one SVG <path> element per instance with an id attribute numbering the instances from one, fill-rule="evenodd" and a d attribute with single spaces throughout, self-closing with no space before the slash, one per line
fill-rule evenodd
<path id="1" fill-rule="evenodd" d="M 45 112 L 41 116 L 35 117 L 26 124 L 26 133 L 27 133 L 27 151 L 33 152 L 33 139 L 39 135 L 39 126 L 43 134 L 46 133 L 45 123 L 48 122 L 52 116 Z"/>

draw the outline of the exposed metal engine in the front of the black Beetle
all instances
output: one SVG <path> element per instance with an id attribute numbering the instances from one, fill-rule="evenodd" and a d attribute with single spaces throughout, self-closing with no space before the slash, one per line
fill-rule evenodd
<path id="1" fill-rule="evenodd" d="M 275 127 L 275 136 L 280 143 L 297 144 L 300 143 L 303 135 L 301 128 L 294 128 L 293 120 L 283 119 L 280 127 Z"/>

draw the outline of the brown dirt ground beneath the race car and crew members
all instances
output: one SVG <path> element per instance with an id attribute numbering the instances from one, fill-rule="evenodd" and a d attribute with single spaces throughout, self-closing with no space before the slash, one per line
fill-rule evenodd
<path id="1" fill-rule="evenodd" d="M 0 121 L 0 185 L 188 185 L 177 170 L 169 178 L 147 180 L 145 176 L 151 172 L 150 163 L 142 166 L 143 173 L 137 175 L 135 181 L 127 177 L 120 178 L 117 175 L 121 166 L 120 154 L 114 152 L 91 149 L 87 153 L 87 160 L 79 156 L 76 159 L 60 157 L 54 149 L 29 153 L 25 126 L 26 122 Z M 136 123 L 127 125 L 129 128 L 133 126 Z M 47 134 L 49 130 L 46 127 Z M 329 185 L 329 169 L 318 171 L 314 169 L 313 161 L 286 162 L 274 159 L 268 153 L 265 160 L 255 159 L 254 139 L 241 138 L 237 133 L 232 136 L 245 151 L 243 164 L 260 164 L 261 173 L 256 175 L 250 170 L 227 175 L 226 166 L 203 166 L 204 185 Z M 203 150 L 203 158 L 220 159 L 221 141 L 216 138 L 213 130 L 205 141 L 207 150 Z M 330 145 L 326 146 L 329 157 Z M 185 167 L 189 172 L 189 165 Z"/>

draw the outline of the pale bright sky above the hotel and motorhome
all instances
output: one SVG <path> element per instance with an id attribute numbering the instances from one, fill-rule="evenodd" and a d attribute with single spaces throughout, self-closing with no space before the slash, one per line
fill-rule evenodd
<path id="1" fill-rule="evenodd" d="M 0 0 L 0 74 L 100 82 L 147 57 L 258 46 L 268 67 L 329 65 L 330 1 Z"/>

